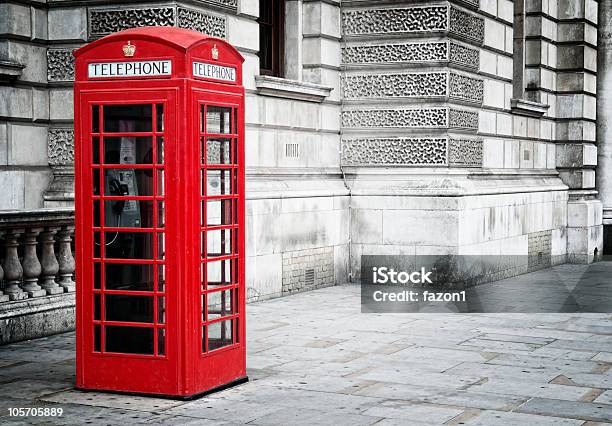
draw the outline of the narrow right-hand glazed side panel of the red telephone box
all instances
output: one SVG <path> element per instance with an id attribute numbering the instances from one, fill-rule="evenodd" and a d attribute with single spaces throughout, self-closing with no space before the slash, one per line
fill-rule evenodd
<path id="1" fill-rule="evenodd" d="M 194 91 L 199 146 L 201 346 L 206 388 L 246 376 L 242 98 Z"/>

